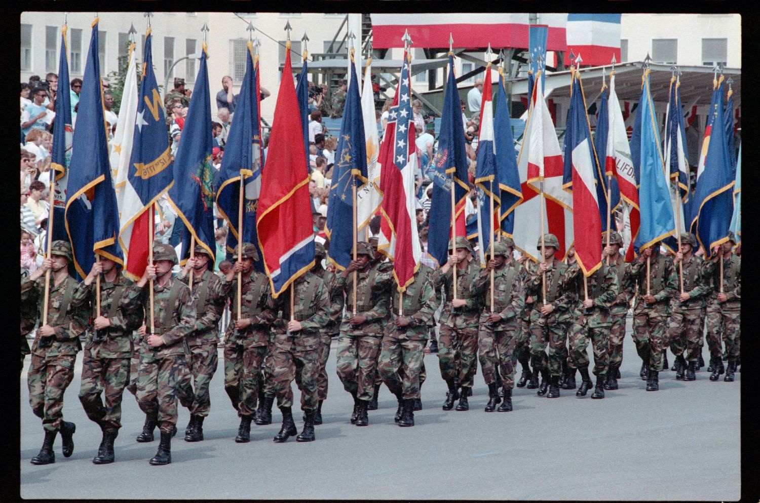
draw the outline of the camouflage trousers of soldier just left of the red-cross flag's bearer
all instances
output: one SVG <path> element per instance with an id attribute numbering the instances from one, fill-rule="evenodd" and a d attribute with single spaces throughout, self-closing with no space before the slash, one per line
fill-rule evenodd
<path id="1" fill-rule="evenodd" d="M 487 312 L 483 315 L 488 318 Z M 515 388 L 515 364 L 512 353 L 515 351 L 519 331 L 519 325 L 511 330 L 494 331 L 488 321 L 480 318 L 477 356 L 486 384 L 496 383 L 498 372 L 502 377 L 504 389 Z"/>

